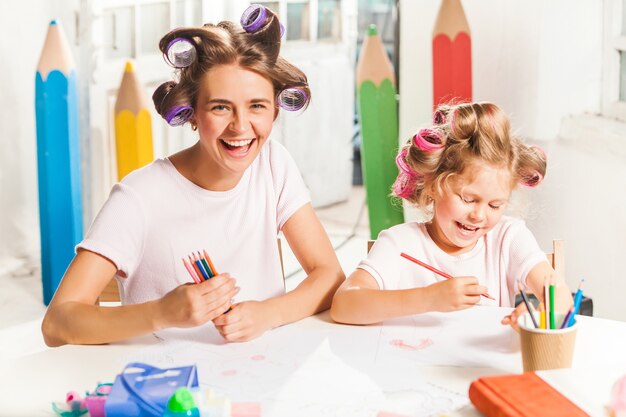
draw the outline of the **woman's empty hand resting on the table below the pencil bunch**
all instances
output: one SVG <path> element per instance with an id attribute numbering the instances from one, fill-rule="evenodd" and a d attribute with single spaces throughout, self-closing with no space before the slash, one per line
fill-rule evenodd
<path id="1" fill-rule="evenodd" d="M 213 324 L 226 341 L 246 342 L 273 328 L 274 314 L 267 303 L 244 301 L 234 304 L 228 313 L 214 319 Z"/>

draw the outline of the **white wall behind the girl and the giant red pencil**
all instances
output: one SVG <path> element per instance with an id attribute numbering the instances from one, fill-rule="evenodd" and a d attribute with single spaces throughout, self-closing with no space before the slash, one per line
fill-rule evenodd
<path id="1" fill-rule="evenodd" d="M 499 104 L 518 133 L 549 155 L 546 180 L 518 193 L 518 208 L 544 250 L 554 238 L 565 240 L 567 282 L 575 288 L 585 278 L 595 315 L 626 320 L 626 127 L 585 115 L 601 105 L 603 2 L 462 3 L 472 36 L 474 100 Z M 438 1 L 401 2 L 402 142 L 431 118 L 438 7 Z M 417 213 L 408 209 L 407 217 Z"/>

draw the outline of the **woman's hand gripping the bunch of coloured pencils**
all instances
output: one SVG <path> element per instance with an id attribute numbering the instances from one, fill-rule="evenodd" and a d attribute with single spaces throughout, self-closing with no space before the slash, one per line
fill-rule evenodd
<path id="1" fill-rule="evenodd" d="M 213 320 L 228 310 L 237 292 L 229 274 L 178 286 L 158 300 L 157 328 L 195 327 Z"/>

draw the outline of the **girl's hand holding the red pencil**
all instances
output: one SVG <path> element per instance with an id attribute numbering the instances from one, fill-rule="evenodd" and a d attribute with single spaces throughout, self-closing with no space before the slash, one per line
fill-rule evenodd
<path id="1" fill-rule="evenodd" d="M 476 277 L 455 277 L 429 285 L 429 299 L 433 311 L 456 311 L 474 306 L 487 287 L 478 284 Z"/>

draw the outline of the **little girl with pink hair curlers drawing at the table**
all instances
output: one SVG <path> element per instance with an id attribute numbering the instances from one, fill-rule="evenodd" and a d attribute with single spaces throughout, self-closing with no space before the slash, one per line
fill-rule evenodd
<path id="1" fill-rule="evenodd" d="M 534 187 L 546 157 L 514 137 L 509 119 L 491 103 L 439 107 L 433 126 L 400 150 L 393 193 L 430 212 L 426 223 L 404 223 L 380 233 L 367 259 L 335 294 L 331 317 L 368 324 L 427 311 L 480 305 L 513 306 L 516 281 L 543 294 L 554 274 L 521 220 L 503 216 L 518 184 Z M 405 253 L 443 271 L 401 257 Z M 557 282 L 557 309 L 571 294 Z M 504 324 L 514 324 L 514 311 Z"/>

